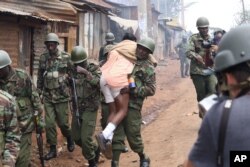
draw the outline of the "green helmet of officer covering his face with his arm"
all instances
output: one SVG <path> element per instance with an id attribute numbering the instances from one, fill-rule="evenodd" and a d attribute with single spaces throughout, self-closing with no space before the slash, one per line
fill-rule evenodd
<path id="1" fill-rule="evenodd" d="M 71 61 L 74 64 L 79 64 L 87 60 L 88 55 L 82 46 L 75 46 L 71 51 Z"/>

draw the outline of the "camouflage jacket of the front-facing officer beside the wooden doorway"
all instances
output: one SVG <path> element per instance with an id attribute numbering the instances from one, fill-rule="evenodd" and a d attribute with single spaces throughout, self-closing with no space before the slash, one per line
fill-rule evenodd
<path id="1" fill-rule="evenodd" d="M 48 52 L 40 57 L 37 88 L 43 98 L 52 103 L 69 100 L 68 72 L 70 56 L 66 52 L 58 51 L 51 56 Z"/>

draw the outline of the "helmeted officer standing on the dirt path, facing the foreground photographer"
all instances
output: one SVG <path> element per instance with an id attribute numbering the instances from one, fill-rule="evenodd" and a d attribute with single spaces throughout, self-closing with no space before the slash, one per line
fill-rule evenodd
<path id="1" fill-rule="evenodd" d="M 199 102 L 216 92 L 217 80 L 213 73 L 212 53 L 217 51 L 217 45 L 211 45 L 212 40 L 208 34 L 209 21 L 207 18 L 198 18 L 196 26 L 199 33 L 190 37 L 186 54 L 191 59 L 190 76 Z M 203 117 L 203 113 L 199 113 L 199 116 Z"/>

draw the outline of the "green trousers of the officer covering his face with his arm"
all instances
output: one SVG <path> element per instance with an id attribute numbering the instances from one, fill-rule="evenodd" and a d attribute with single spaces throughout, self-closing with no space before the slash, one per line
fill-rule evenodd
<path id="1" fill-rule="evenodd" d="M 80 126 L 75 115 L 72 117 L 72 138 L 82 148 L 82 154 L 87 160 L 94 159 L 96 156 L 97 144 L 93 141 L 93 135 L 96 127 L 97 110 L 89 109 L 83 111 L 81 113 Z"/>

